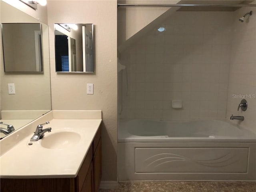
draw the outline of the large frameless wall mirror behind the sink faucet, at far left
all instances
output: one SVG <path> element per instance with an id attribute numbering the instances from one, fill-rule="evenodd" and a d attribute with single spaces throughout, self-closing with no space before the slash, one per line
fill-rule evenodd
<path id="1" fill-rule="evenodd" d="M 11 47 L 12 43 L 4 45 L 3 55 L 2 42 L 8 39 L 8 35 L 6 36 L 6 33 L 2 34 L 0 30 L 0 37 L 3 38 L 3 40 L 0 38 L 1 139 L 8 135 L 9 132 L 11 134 L 13 130 L 18 130 L 25 124 L 49 112 L 52 107 L 48 26 L 6 2 L 0 1 L 0 3 L 0 21 L 3 24 L 3 32 L 8 28 L 8 31 L 10 31 L 8 35 L 13 37 L 13 43 L 16 44 L 14 47 Z M 32 28 L 32 30 L 27 30 L 28 28 Z M 20 42 L 16 42 L 19 41 L 18 39 Z M 35 41 L 38 42 L 36 43 Z M 24 44 L 20 46 L 22 42 Z M 41 50 L 38 50 L 36 46 Z M 25 55 L 22 55 L 21 52 L 15 53 L 15 48 L 23 49 L 27 52 L 24 53 Z M 31 52 L 33 52 L 33 56 L 25 58 Z M 37 52 L 37 58 L 35 52 Z M 7 55 L 13 58 L 7 59 Z M 8 72 L 4 71 L 4 60 L 5 62 L 9 60 L 10 70 L 5 67 L 6 69 L 8 68 Z M 23 60 L 24 63 L 15 62 L 15 60 Z M 41 63 L 38 64 L 37 62 Z M 18 69 L 16 65 L 26 69 L 16 70 Z M 28 70 L 28 66 L 30 66 L 29 69 L 34 69 Z M 10 85 L 12 92 L 9 93 L 8 86 Z"/>

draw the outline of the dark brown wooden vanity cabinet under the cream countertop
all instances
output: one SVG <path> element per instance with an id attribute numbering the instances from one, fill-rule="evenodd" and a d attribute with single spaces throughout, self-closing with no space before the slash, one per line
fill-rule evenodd
<path id="1" fill-rule="evenodd" d="M 1 192 L 98 192 L 102 175 L 99 128 L 76 178 L 0 179 Z"/>

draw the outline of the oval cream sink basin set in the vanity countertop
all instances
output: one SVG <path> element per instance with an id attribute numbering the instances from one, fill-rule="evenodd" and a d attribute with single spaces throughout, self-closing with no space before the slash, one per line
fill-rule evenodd
<path id="1" fill-rule="evenodd" d="M 81 139 L 76 132 L 56 132 L 49 133 L 42 138 L 41 146 L 48 149 L 64 149 L 74 147 Z"/>

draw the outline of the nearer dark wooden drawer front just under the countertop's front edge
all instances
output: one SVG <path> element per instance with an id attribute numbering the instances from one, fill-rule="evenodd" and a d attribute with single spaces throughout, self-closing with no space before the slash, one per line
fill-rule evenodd
<path id="1" fill-rule="evenodd" d="M 88 150 L 86 158 L 84 159 L 84 162 L 83 162 L 83 164 L 77 174 L 77 177 L 76 177 L 77 182 L 78 182 L 78 188 L 79 188 L 78 192 L 81 191 L 82 186 L 84 184 L 84 180 L 86 178 L 86 173 L 88 172 L 90 163 L 92 161 L 92 156 L 93 156 L 93 154 L 92 154 L 92 146 L 91 146 L 90 149 Z"/>

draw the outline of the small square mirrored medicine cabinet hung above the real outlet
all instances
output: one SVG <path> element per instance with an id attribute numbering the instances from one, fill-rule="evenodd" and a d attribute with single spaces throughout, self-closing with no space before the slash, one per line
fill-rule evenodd
<path id="1" fill-rule="evenodd" d="M 54 24 L 56 72 L 94 72 L 93 24 Z"/>

